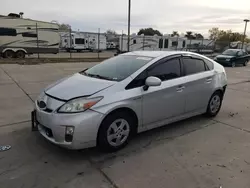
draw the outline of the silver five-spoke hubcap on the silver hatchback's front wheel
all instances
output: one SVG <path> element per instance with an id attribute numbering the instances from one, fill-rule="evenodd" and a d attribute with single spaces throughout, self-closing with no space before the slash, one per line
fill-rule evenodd
<path id="1" fill-rule="evenodd" d="M 111 146 L 120 146 L 128 139 L 130 127 L 125 119 L 115 120 L 108 128 L 107 140 Z"/>

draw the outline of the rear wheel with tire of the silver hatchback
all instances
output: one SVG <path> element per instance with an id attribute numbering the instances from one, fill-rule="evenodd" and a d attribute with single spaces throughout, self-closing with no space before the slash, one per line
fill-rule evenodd
<path id="1" fill-rule="evenodd" d="M 210 98 L 209 103 L 207 105 L 206 115 L 209 117 L 215 117 L 221 108 L 223 94 L 219 91 L 216 91 Z"/>

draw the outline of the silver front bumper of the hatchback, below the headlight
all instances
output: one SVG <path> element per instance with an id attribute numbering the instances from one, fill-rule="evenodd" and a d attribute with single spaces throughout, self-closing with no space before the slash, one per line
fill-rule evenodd
<path id="1" fill-rule="evenodd" d="M 36 104 L 36 103 L 35 103 Z M 96 146 L 99 126 L 104 115 L 92 110 L 75 114 L 45 112 L 35 105 L 38 131 L 53 144 L 68 149 L 84 149 Z M 72 142 L 65 141 L 66 126 L 74 127 Z"/>

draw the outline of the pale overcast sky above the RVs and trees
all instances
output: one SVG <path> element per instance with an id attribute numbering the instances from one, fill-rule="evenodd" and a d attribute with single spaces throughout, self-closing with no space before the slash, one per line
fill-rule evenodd
<path id="1" fill-rule="evenodd" d="M 131 0 L 131 30 L 153 27 L 162 33 L 186 31 L 207 35 L 219 27 L 243 32 L 250 19 L 250 0 Z M 74 30 L 127 31 L 128 0 L 1 0 L 0 14 L 24 12 L 24 17 L 68 23 Z M 250 34 L 250 24 L 248 27 Z"/>

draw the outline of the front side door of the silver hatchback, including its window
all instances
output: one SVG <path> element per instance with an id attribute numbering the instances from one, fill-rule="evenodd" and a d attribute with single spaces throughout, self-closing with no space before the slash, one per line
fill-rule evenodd
<path id="1" fill-rule="evenodd" d="M 176 117 L 185 109 L 185 79 L 179 57 L 162 61 L 147 70 L 147 76 L 162 80 L 161 86 L 142 91 L 142 116 L 145 126 Z"/>

